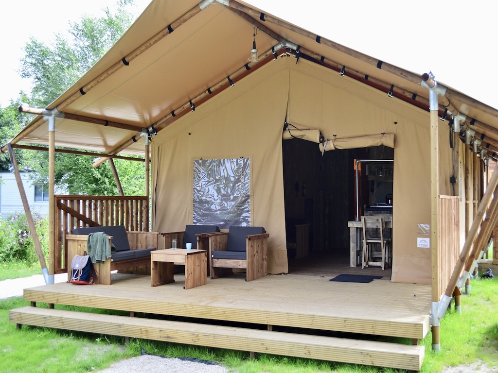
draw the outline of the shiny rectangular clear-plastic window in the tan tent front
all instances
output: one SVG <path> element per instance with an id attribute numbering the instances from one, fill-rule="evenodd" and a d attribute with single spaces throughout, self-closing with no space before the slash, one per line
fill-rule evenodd
<path id="1" fill-rule="evenodd" d="M 250 225 L 250 159 L 194 161 L 193 223 Z"/>

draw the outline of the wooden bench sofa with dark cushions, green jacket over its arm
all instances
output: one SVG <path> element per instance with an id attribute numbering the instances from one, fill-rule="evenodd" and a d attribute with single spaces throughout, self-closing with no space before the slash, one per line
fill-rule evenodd
<path id="1" fill-rule="evenodd" d="M 121 227 L 121 226 L 120 226 Z M 73 232 L 83 233 L 88 231 L 88 234 L 66 234 L 67 242 L 67 258 L 68 265 L 72 258 L 78 254 L 83 255 L 86 251 L 88 254 L 88 235 L 93 232 L 106 232 L 104 228 L 108 227 L 87 227 L 92 229 L 77 228 Z M 116 228 L 116 227 L 112 227 Z M 124 229 L 124 227 L 123 227 Z M 121 229 L 108 229 L 106 233 L 120 232 Z M 126 231 L 118 235 L 109 235 L 109 245 L 120 243 L 117 246 L 116 254 L 113 254 L 113 259 L 109 258 L 102 263 L 94 263 L 97 280 L 95 283 L 110 285 L 112 271 L 126 271 L 136 274 L 150 274 L 150 251 L 165 249 L 164 237 L 159 232 L 138 232 Z M 118 248 L 120 246 L 120 248 Z M 124 249 L 124 250 L 123 250 Z M 71 271 L 68 268 L 68 280 L 70 280 Z"/>

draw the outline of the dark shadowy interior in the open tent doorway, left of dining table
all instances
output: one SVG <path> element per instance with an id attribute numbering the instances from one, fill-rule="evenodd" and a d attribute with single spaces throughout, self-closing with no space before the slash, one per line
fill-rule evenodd
<path id="1" fill-rule="evenodd" d="M 390 153 L 379 155 L 384 153 L 379 148 Z M 322 155 L 317 143 L 301 139 L 284 140 L 282 149 L 289 272 L 317 254 L 347 264 L 348 221 L 356 214 L 355 160 L 392 157 L 392 149 L 333 150 Z M 299 247 L 303 234 L 308 243 L 304 251 Z"/>

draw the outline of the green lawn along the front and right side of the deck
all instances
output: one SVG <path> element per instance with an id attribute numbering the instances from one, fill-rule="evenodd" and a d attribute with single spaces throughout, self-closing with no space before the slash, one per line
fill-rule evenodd
<path id="1" fill-rule="evenodd" d="M 498 369 L 498 279 L 473 279 L 469 295 L 462 295 L 462 314 L 448 310 L 441 320 L 441 352 L 432 352 L 432 336 L 420 341 L 425 346 L 421 373 L 441 372 L 445 366 L 484 361 Z M 17 330 L 8 322 L 8 310 L 28 305 L 21 297 L 0 301 L 1 371 L 10 372 L 90 372 L 109 367 L 142 350 L 164 357 L 196 358 L 217 362 L 239 373 L 397 373 L 395 369 L 341 364 L 284 356 L 178 345 L 158 341 L 58 331 L 23 326 Z M 47 304 L 38 303 L 47 307 Z M 79 307 L 57 308 L 88 310 Z M 94 310 L 98 311 L 98 310 Z M 102 311 L 100 311 L 102 312 Z M 407 342 L 409 343 L 409 341 Z"/>

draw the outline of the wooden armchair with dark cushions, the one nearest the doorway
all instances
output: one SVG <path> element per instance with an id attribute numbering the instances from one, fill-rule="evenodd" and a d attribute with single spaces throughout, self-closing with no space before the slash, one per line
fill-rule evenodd
<path id="1" fill-rule="evenodd" d="M 211 279 L 245 269 L 246 281 L 266 276 L 268 237 L 263 227 L 232 226 L 228 232 L 209 234 Z"/>

